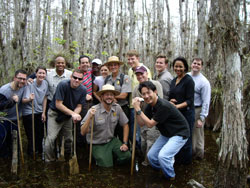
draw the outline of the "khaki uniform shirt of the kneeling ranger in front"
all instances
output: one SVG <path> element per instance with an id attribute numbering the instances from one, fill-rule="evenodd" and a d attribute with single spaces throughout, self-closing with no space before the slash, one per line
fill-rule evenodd
<path id="1" fill-rule="evenodd" d="M 124 126 L 128 123 L 128 118 L 121 109 L 121 106 L 113 103 L 109 112 L 105 110 L 102 103 L 94 106 L 96 113 L 94 117 L 93 144 L 105 144 L 114 137 L 117 124 Z M 89 117 L 89 111 L 82 120 L 83 124 Z M 91 121 L 92 123 L 92 121 Z M 90 124 L 91 129 L 92 124 Z M 87 141 L 90 142 L 90 133 L 87 134 Z"/>

